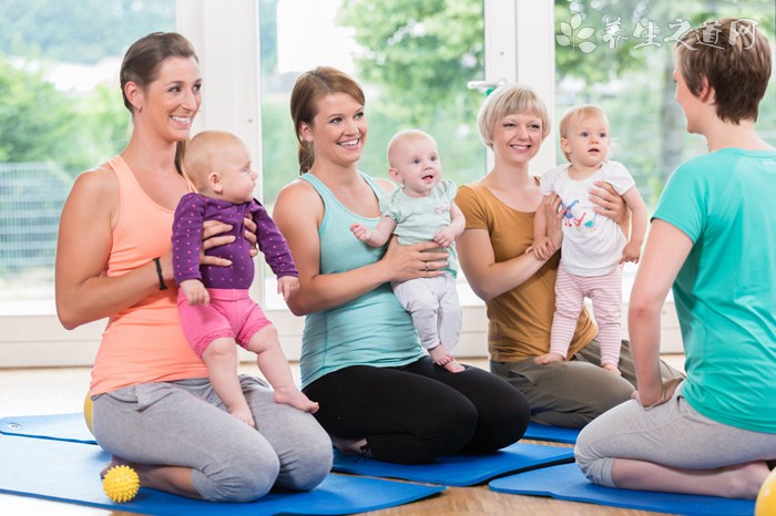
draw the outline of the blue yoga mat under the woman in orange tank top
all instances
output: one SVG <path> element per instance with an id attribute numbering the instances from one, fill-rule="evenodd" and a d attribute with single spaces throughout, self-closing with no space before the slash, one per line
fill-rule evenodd
<path id="1" fill-rule="evenodd" d="M 329 474 L 310 492 L 270 493 L 248 504 L 201 502 L 141 488 L 132 502 L 119 505 L 102 491 L 100 471 L 110 455 L 99 446 L 0 436 L 0 493 L 159 516 L 354 514 L 395 507 L 445 489 L 443 486 Z"/>

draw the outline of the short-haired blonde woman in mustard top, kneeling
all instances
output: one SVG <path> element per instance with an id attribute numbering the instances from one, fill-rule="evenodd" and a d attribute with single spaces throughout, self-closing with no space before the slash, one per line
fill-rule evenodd
<path id="1" fill-rule="evenodd" d="M 483 178 L 458 189 L 456 204 L 467 226 L 456 245 L 469 285 L 486 301 L 490 369 L 525 395 L 532 421 L 582 427 L 631 398 L 635 373 L 629 344 L 624 341 L 621 350 L 622 376 L 600 368 L 595 324 L 583 311 L 566 360 L 538 362 L 550 350 L 559 255 L 537 258 L 531 228 L 538 209 L 558 219 L 560 199 L 543 203 L 529 163 L 550 133 L 550 121 L 535 93 L 507 84 L 486 99 L 478 124 L 494 163 Z M 611 185 L 599 186 L 591 192 L 599 214 L 620 221 L 622 198 Z M 554 244 L 560 248 L 560 227 Z M 665 364 L 662 371 L 666 378 L 681 376 Z"/>

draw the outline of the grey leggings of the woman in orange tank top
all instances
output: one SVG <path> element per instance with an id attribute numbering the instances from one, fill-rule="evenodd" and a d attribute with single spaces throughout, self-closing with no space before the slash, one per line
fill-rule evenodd
<path id="1" fill-rule="evenodd" d="M 225 411 L 207 379 L 127 386 L 94 399 L 93 427 L 109 453 L 147 465 L 184 466 L 200 495 L 249 502 L 270 488 L 306 491 L 331 468 L 331 441 L 316 420 L 275 403 L 241 375 L 258 431 Z"/>

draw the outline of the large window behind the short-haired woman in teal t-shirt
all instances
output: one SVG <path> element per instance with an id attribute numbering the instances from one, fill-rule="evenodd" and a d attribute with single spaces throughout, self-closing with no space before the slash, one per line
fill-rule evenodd
<path id="1" fill-rule="evenodd" d="M 611 124 L 611 158 L 629 168 L 650 213 L 674 168 L 706 152 L 705 140 L 685 131 L 674 101 L 676 40 L 708 22 L 693 44 L 723 52 L 726 42 L 717 38 L 715 20 L 736 17 L 751 20 L 743 30 L 763 31 L 772 45 L 776 43 L 773 0 L 555 0 L 554 14 L 555 123 L 550 138 L 555 155 L 563 159 L 557 131 L 563 113 L 575 104 L 601 106 Z M 760 104 L 757 130 L 776 145 L 776 75 Z M 633 264 L 625 266 L 625 301 L 635 269 Z"/>

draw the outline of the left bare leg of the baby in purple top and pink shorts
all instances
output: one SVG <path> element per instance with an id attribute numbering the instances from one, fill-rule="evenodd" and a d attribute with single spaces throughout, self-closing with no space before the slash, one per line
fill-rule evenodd
<path id="1" fill-rule="evenodd" d="M 256 426 L 248 402 L 237 379 L 237 349 L 234 339 L 224 337 L 210 343 L 202 359 L 207 364 L 211 384 L 229 414 Z"/>

